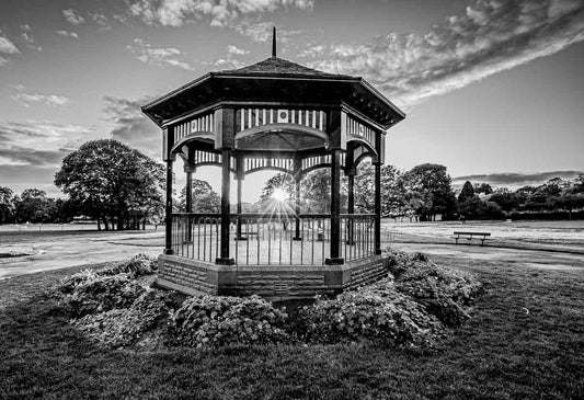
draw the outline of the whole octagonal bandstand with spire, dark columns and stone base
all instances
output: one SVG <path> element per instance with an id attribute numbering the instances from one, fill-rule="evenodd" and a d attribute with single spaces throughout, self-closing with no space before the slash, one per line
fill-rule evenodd
<path id="1" fill-rule="evenodd" d="M 161 129 L 167 163 L 165 245 L 157 284 L 185 294 L 270 299 L 335 294 L 385 275 L 380 168 L 386 130 L 404 114 L 359 77 L 332 75 L 276 57 L 209 72 L 142 107 Z M 179 156 L 179 158 L 176 157 Z M 375 213 L 355 214 L 357 165 L 375 165 Z M 203 165 L 220 168 L 220 214 L 173 213 L 173 163 L 186 185 Z M 306 214 L 300 182 L 330 169 L 329 213 Z M 260 214 L 241 212 L 247 175 L 290 174 L 294 201 Z M 347 176 L 341 213 L 341 173 Z M 236 213 L 230 176 L 237 181 Z"/>

